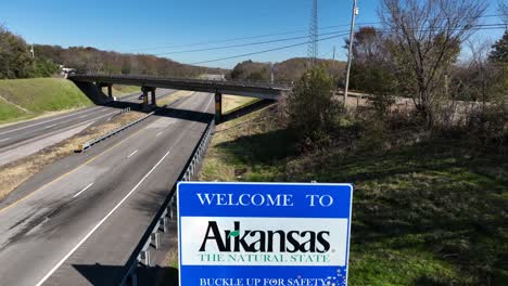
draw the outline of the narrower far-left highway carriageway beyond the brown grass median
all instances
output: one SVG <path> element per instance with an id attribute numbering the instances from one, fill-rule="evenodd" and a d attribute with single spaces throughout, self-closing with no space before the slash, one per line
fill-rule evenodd
<path id="1" fill-rule="evenodd" d="M 156 95 L 164 98 L 174 92 L 160 89 Z M 140 94 L 127 95 L 119 101 L 139 102 Z M 0 128 L 0 166 L 65 140 L 92 123 L 107 120 L 116 113 L 118 108 L 115 107 L 93 106 Z"/>

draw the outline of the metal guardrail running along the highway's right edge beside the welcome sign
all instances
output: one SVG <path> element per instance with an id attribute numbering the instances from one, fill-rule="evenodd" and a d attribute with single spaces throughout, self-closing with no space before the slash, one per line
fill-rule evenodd
<path id="1" fill-rule="evenodd" d="M 176 219 L 176 185 L 179 181 L 190 181 L 191 178 L 198 171 L 198 168 L 203 159 L 203 156 L 208 148 L 209 141 L 214 135 L 215 122 L 211 121 L 206 127 L 206 131 L 200 139 L 200 143 L 196 145 L 194 151 L 192 152 L 191 158 L 187 161 L 183 171 L 178 177 L 177 182 L 172 186 L 172 191 L 167 196 L 166 200 L 164 202 L 162 208 L 158 210 L 155 219 L 150 224 L 149 229 L 147 230 L 143 238 L 141 239 L 140 244 L 134 251 L 131 259 L 127 262 L 128 271 L 124 275 L 124 278 L 120 282 L 120 286 L 124 285 L 131 285 L 137 286 L 138 278 L 136 271 L 138 266 L 144 265 L 150 266 L 151 257 L 150 250 L 151 247 L 154 249 L 158 249 L 160 247 L 160 235 L 161 233 L 167 233 L 167 221 Z"/>

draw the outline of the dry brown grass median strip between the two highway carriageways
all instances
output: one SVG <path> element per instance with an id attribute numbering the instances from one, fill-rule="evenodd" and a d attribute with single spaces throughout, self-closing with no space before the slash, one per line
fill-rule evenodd
<path id="1" fill-rule="evenodd" d="M 79 144 L 105 134 L 142 116 L 144 114 L 138 112 L 118 115 L 107 122 L 89 127 L 69 139 L 0 167 L 0 182 L 2 182 L 0 184 L 0 200 L 15 191 L 16 187 L 30 177 L 42 170 L 45 166 L 73 154 Z"/>

